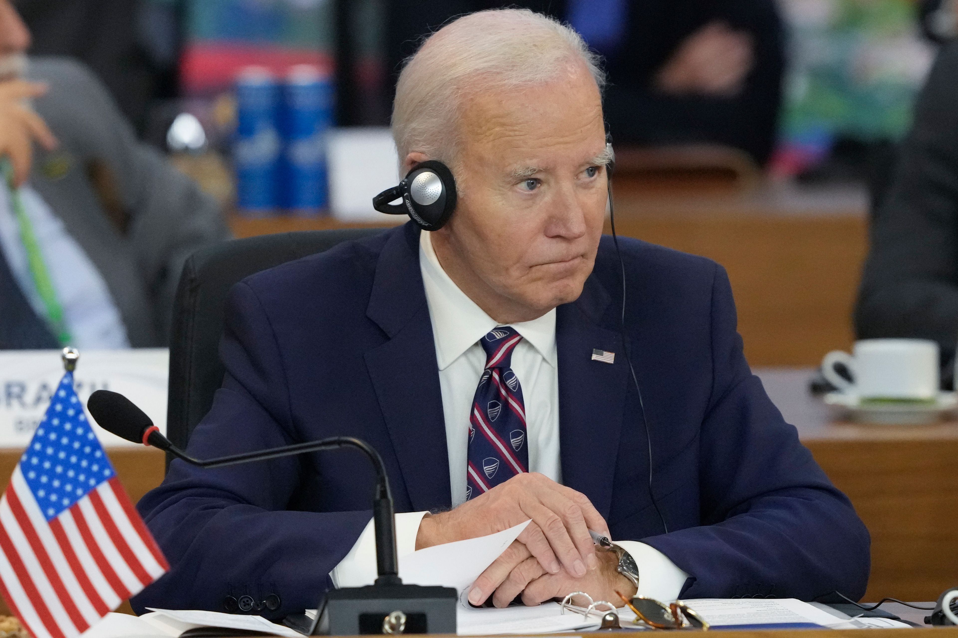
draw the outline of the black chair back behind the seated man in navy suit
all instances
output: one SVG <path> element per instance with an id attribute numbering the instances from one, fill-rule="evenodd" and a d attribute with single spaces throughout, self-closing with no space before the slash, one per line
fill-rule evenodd
<path id="1" fill-rule="evenodd" d="M 183 267 L 173 301 L 170 338 L 170 396 L 167 436 L 185 449 L 190 435 L 213 406 L 223 382 L 217 348 L 223 305 L 239 280 L 381 229 L 300 231 L 236 239 L 194 253 Z M 171 456 L 167 455 L 167 467 Z"/>

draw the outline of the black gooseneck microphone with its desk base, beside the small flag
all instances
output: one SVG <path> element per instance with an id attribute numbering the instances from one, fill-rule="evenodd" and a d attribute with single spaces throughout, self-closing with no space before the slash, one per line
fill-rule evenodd
<path id="1" fill-rule="evenodd" d="M 174 446 L 147 414 L 124 395 L 97 390 L 90 395 L 86 407 L 101 428 L 133 443 L 168 451 L 176 458 L 199 468 L 222 468 L 253 461 L 305 454 L 336 448 L 357 448 L 363 451 L 376 468 L 376 495 L 373 521 L 376 532 L 376 584 L 367 587 L 343 588 L 329 592 L 319 605 L 314 619 L 305 615 L 287 617 L 286 625 L 305 633 L 317 630 L 334 635 L 363 633 L 401 633 L 387 627 L 386 620 L 399 613 L 402 627 L 409 633 L 455 633 L 455 589 L 403 584 L 399 579 L 396 555 L 396 529 L 393 496 L 389 476 L 379 453 L 368 443 L 351 436 L 335 436 L 318 441 L 296 443 L 270 450 L 248 451 L 229 456 L 201 460 Z M 397 608 L 399 606 L 399 608 Z M 395 622 L 393 623 L 395 625 Z"/>

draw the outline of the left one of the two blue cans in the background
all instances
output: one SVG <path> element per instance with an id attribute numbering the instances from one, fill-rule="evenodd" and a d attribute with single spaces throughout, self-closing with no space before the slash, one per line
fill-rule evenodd
<path id="1" fill-rule="evenodd" d="M 262 216 L 279 208 L 282 143 L 278 131 L 280 91 L 268 69 L 247 67 L 236 81 L 237 133 L 233 165 L 237 176 L 237 208 Z"/>

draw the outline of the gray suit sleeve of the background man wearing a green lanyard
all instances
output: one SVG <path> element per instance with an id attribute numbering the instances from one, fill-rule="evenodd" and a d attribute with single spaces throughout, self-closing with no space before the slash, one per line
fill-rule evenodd
<path id="1" fill-rule="evenodd" d="M 76 62 L 62 62 L 60 66 L 65 67 L 64 72 L 51 81 L 69 91 L 77 105 L 68 116 L 74 125 L 63 127 L 72 139 L 61 142 L 84 149 L 84 161 L 99 160 L 109 169 L 126 215 L 126 238 L 153 307 L 156 333 L 166 343 L 172 299 L 183 263 L 198 248 L 228 239 L 226 221 L 215 199 L 161 153 L 136 139 L 132 127 L 89 69 Z"/>

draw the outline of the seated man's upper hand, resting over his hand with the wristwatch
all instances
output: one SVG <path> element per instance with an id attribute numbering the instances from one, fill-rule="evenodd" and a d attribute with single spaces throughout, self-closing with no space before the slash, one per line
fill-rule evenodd
<path id="1" fill-rule="evenodd" d="M 518 541 L 528 550 L 525 556 L 536 557 L 542 569 L 557 574 L 565 567 L 582 577 L 587 569 L 596 568 L 589 529 L 607 536 L 604 518 L 585 495 L 540 473 L 518 474 L 454 510 L 422 518 L 416 549 L 487 536 L 530 518 Z M 508 576 L 512 567 L 503 571 Z"/>

